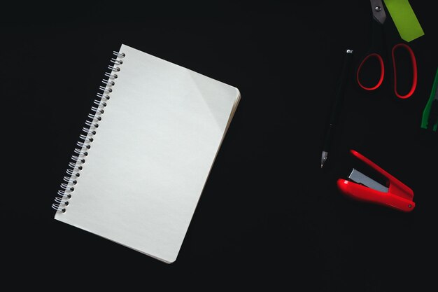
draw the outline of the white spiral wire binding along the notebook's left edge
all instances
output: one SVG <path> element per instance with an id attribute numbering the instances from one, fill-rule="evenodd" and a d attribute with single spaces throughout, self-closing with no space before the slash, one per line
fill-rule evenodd
<path id="1" fill-rule="evenodd" d="M 75 155 L 71 156 L 73 162 L 69 162 L 69 168 L 66 169 L 68 176 L 64 176 L 64 183 L 61 183 L 61 189 L 58 190 L 55 203 L 52 204 L 52 208 L 58 212 L 65 213 L 66 206 L 69 205 L 69 200 L 73 197 L 74 186 L 78 183 L 80 171 L 83 169 L 85 158 L 88 155 L 88 151 L 90 151 L 92 141 L 94 141 L 92 136 L 97 134 L 99 122 L 102 120 L 102 115 L 105 112 L 104 108 L 107 106 L 111 92 L 113 92 L 111 88 L 115 85 L 115 80 L 118 78 L 116 73 L 120 72 L 120 65 L 123 64 L 121 59 L 125 57 L 125 53 L 113 51 L 113 55 L 115 55 L 115 57 L 111 58 L 111 63 L 113 64 L 108 66 L 111 72 L 105 73 L 107 79 L 102 80 L 102 83 L 105 85 L 99 86 L 99 90 L 101 90 L 101 92 L 97 93 L 99 99 L 94 99 L 93 103 L 95 106 L 91 108 L 92 113 L 88 115 L 89 120 L 85 121 L 86 127 L 82 128 L 85 134 L 80 134 L 79 136 L 80 141 L 76 143 L 79 148 L 75 148 Z"/>

